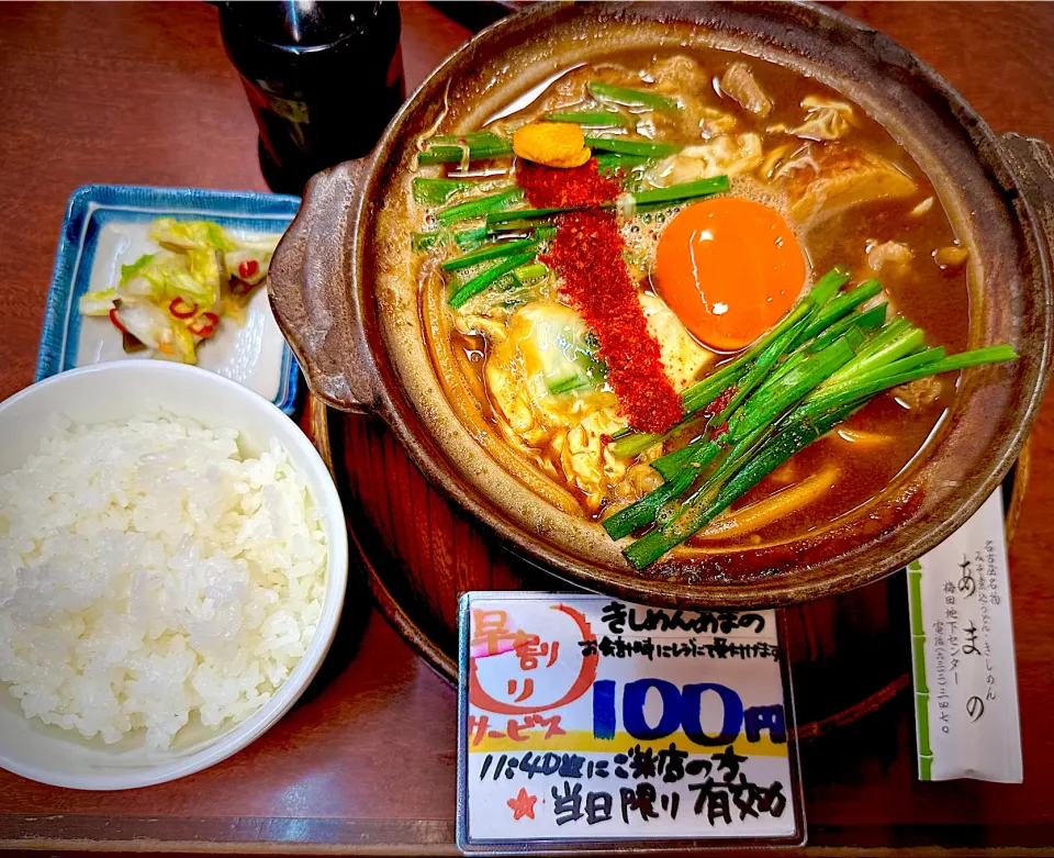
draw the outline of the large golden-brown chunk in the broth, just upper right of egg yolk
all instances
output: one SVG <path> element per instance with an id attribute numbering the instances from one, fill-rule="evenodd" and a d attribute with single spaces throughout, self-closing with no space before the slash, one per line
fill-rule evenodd
<path id="1" fill-rule="evenodd" d="M 896 165 L 862 149 L 811 146 L 808 160 L 776 170 L 798 223 L 815 225 L 855 205 L 916 192 L 915 181 Z"/>

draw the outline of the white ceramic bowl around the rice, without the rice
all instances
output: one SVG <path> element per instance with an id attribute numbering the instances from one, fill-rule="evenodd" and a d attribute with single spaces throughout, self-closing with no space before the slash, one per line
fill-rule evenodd
<path id="1" fill-rule="evenodd" d="M 296 702 L 333 642 L 348 579 L 344 511 L 333 478 L 295 423 L 259 394 L 195 367 L 161 360 L 100 364 L 63 372 L 0 403 L 0 473 L 20 467 L 40 448 L 56 413 L 78 423 L 127 420 L 152 406 L 191 417 L 210 428 L 239 430 L 258 453 L 271 437 L 311 488 L 326 523 L 326 590 L 322 616 L 307 651 L 278 691 L 236 724 L 205 727 L 191 720 L 164 751 L 144 745 L 136 731 L 114 745 L 26 718 L 19 700 L 0 686 L 0 767 L 57 787 L 124 790 L 181 778 L 212 766 L 266 733 Z"/>

